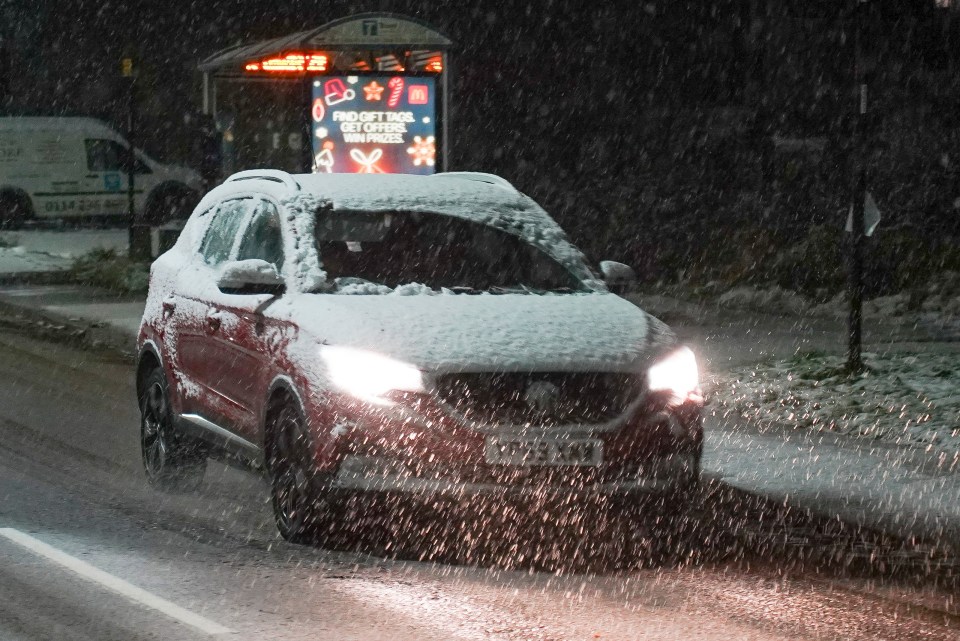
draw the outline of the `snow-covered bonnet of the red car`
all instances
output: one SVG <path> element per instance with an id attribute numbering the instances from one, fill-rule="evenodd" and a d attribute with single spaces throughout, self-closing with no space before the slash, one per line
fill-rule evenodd
<path id="1" fill-rule="evenodd" d="M 303 294 L 287 313 L 317 342 L 438 373 L 630 371 L 676 342 L 663 323 L 608 293 Z"/>

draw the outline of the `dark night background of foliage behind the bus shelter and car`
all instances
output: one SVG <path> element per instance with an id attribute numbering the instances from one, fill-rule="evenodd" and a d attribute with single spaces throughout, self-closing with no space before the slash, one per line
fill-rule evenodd
<path id="1" fill-rule="evenodd" d="M 911 265 L 957 262 L 960 12 L 937 4 L 873 0 L 864 20 L 873 117 L 859 155 L 885 216 L 878 238 L 888 235 L 871 249 L 878 291 L 909 281 Z M 133 54 L 143 146 L 190 162 L 198 60 L 395 11 L 456 43 L 454 167 L 506 176 L 593 257 L 651 281 L 833 288 L 850 192 L 853 5 L 0 0 L 14 62 L 5 107 L 119 124 L 119 59 Z"/>

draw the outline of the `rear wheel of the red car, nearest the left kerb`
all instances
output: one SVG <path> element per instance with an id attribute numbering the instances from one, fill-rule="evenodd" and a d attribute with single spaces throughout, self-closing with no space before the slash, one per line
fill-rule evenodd
<path id="1" fill-rule="evenodd" d="M 140 453 L 147 482 L 165 491 L 193 491 L 203 480 L 207 456 L 173 424 L 167 377 L 156 368 L 144 379 L 140 397 Z"/>

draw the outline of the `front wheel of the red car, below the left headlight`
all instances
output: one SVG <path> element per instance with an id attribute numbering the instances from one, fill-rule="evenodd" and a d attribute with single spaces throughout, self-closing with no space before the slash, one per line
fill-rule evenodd
<path id="1" fill-rule="evenodd" d="M 306 420 L 294 403 L 283 402 L 268 420 L 270 494 L 277 529 L 292 543 L 315 542 L 331 525 L 339 503 L 330 488 L 332 475 L 317 471 Z"/>

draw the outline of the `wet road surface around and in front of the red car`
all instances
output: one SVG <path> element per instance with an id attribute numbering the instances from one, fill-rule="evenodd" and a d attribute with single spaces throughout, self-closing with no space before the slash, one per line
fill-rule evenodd
<path id="1" fill-rule="evenodd" d="M 936 546 L 722 485 L 669 541 L 612 506 L 357 507 L 325 546 L 294 546 L 253 475 L 211 465 L 196 494 L 150 490 L 130 364 L 0 329 L 4 641 L 960 637 L 957 566 Z"/>

